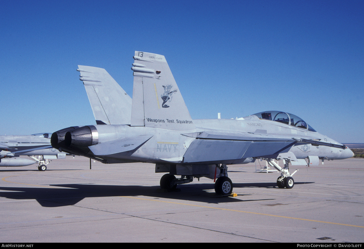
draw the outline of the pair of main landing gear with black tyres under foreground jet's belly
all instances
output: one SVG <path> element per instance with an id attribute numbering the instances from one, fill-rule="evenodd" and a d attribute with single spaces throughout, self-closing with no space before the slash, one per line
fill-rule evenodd
<path id="1" fill-rule="evenodd" d="M 211 165 L 212 166 L 212 165 Z M 212 168 L 211 168 L 212 169 Z M 210 179 L 216 179 L 215 182 L 215 193 L 218 195 L 230 195 L 233 192 L 233 183 L 229 177 L 227 177 L 227 166 L 226 164 L 213 165 L 213 169 L 215 171 L 214 174 L 209 176 L 203 175 Z M 211 170 L 210 170 L 211 171 Z M 176 178 L 172 174 L 165 174 L 162 176 L 160 185 L 161 189 L 165 189 L 167 191 L 176 191 L 177 184 L 184 184 L 193 181 L 194 175 L 181 175 L 181 178 Z M 195 175 L 195 177 L 202 177 L 202 175 Z"/>

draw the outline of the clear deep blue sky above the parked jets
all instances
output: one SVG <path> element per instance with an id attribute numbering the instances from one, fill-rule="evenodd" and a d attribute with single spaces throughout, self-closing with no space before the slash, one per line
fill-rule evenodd
<path id="1" fill-rule="evenodd" d="M 0 1 L 0 134 L 94 125 L 77 65 L 132 96 L 164 55 L 193 119 L 280 110 L 364 143 L 364 1 Z"/>

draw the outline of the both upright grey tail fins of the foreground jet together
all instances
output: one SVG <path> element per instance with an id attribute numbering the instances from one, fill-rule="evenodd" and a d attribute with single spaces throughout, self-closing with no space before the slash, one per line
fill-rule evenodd
<path id="1" fill-rule="evenodd" d="M 165 57 L 135 51 L 133 58 L 133 99 L 103 68 L 78 66 L 96 124 L 194 130 Z"/>

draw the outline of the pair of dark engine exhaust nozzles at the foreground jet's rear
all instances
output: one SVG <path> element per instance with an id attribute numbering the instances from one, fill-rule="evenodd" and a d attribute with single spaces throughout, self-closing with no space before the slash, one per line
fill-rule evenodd
<path id="1" fill-rule="evenodd" d="M 52 134 L 52 147 L 62 151 L 79 151 L 88 153 L 88 146 L 96 145 L 99 142 L 99 133 L 93 125 L 72 126 Z M 72 153 L 72 152 L 71 152 Z"/>

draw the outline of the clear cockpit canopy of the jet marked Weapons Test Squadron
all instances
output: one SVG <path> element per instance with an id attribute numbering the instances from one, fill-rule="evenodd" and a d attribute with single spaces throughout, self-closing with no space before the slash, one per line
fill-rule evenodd
<path id="1" fill-rule="evenodd" d="M 267 119 L 272 120 L 280 123 L 284 123 L 286 125 L 291 125 L 297 128 L 309 130 L 309 131 L 315 131 L 311 126 L 309 126 L 303 119 L 300 117 L 290 114 L 288 112 L 283 111 L 263 111 L 256 114 L 258 118 L 260 119 Z"/>

